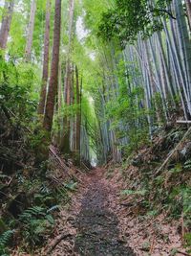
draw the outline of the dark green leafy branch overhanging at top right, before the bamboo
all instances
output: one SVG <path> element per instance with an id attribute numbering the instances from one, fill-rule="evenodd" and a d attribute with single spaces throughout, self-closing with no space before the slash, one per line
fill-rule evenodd
<path id="1" fill-rule="evenodd" d="M 155 6 L 148 0 L 117 0 L 114 8 L 103 13 L 99 33 L 108 38 L 117 37 L 122 45 L 145 38 L 162 29 L 160 16 L 167 17 L 170 0 L 158 0 Z"/>

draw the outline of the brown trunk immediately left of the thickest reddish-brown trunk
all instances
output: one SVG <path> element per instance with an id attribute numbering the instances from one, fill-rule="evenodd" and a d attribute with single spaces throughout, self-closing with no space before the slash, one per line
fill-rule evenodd
<path id="1" fill-rule="evenodd" d="M 49 48 L 50 48 L 50 18 L 51 18 L 51 0 L 47 0 L 46 7 L 46 25 L 44 35 L 44 60 L 42 72 L 42 85 L 40 93 L 40 102 L 38 105 L 38 114 L 43 115 L 47 95 L 47 81 L 49 77 Z"/>

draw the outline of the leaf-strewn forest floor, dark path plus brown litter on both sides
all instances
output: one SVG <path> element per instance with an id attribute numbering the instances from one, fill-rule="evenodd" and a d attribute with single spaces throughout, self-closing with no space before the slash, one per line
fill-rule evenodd
<path id="1" fill-rule="evenodd" d="M 70 208 L 60 212 L 54 237 L 39 255 L 189 255 L 181 246 L 179 223 L 132 215 L 120 198 L 120 175 L 114 176 L 106 169 L 82 175 Z"/>

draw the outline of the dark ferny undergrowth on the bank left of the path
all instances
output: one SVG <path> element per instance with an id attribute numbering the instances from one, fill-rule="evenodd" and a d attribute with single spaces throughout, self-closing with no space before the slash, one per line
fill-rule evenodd
<path id="1" fill-rule="evenodd" d="M 8 247 L 15 245 L 29 253 L 41 247 L 53 234 L 54 220 L 61 209 L 60 205 L 70 203 L 71 193 L 75 191 L 77 183 L 71 178 L 58 182 L 53 175 L 54 169 L 50 169 L 53 164 L 46 165 L 46 174 L 42 171 L 39 175 L 32 167 L 17 172 L 11 188 L 4 189 L 4 192 L 14 193 L 15 196 L 1 198 L 0 255 L 9 255 Z M 2 233 L 2 230 L 5 231 Z M 9 230 L 14 230 L 16 236 L 12 236 L 13 231 Z M 11 236 L 13 240 L 9 244 Z"/>

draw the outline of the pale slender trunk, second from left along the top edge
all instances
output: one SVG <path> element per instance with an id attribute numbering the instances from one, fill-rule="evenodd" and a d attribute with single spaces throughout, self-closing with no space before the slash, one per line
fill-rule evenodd
<path id="1" fill-rule="evenodd" d="M 36 12 L 36 0 L 32 0 L 30 23 L 29 23 L 27 43 L 26 43 L 26 48 L 25 48 L 25 58 L 27 61 L 30 60 L 31 55 L 32 55 L 32 38 L 33 38 L 35 12 Z"/>

